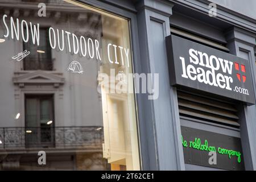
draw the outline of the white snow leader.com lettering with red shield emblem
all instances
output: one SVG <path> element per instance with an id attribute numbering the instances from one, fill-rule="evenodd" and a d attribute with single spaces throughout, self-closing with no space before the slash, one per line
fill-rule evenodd
<path id="1" fill-rule="evenodd" d="M 233 83 L 232 77 L 232 68 L 236 71 L 240 71 L 240 64 L 232 61 L 222 59 L 221 57 L 217 57 L 215 55 L 208 55 L 205 52 L 200 52 L 195 49 L 189 49 L 189 62 L 192 64 L 185 65 L 184 57 L 179 57 L 182 65 L 182 77 L 188 78 L 192 81 L 199 81 L 201 83 L 217 86 L 221 89 L 233 90 L 234 92 L 249 95 L 249 91 L 246 88 L 235 86 L 234 89 L 231 88 L 231 83 Z M 199 67 L 195 67 L 195 66 Z M 203 68 L 208 68 L 208 70 Z M 217 73 L 220 71 L 222 73 Z M 241 64 L 241 72 L 244 74 L 245 65 Z M 240 73 L 237 73 L 237 78 L 240 82 L 246 81 L 246 76 Z"/>

